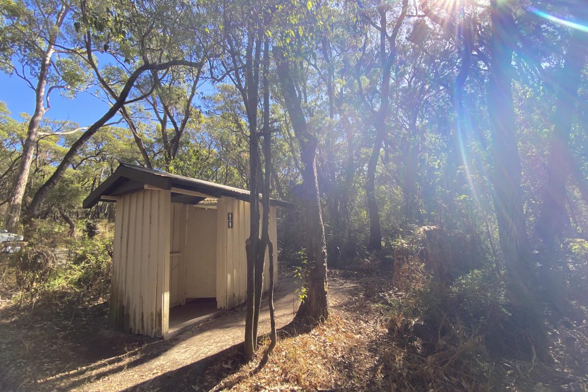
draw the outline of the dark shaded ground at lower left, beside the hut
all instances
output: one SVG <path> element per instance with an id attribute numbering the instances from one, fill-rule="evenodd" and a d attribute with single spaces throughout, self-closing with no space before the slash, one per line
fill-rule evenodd
<path id="1" fill-rule="evenodd" d="M 51 377 L 135 350 L 153 339 L 111 331 L 108 303 L 66 293 L 0 309 L 0 390 L 29 390 Z M 28 384 L 27 387 L 24 384 Z"/>

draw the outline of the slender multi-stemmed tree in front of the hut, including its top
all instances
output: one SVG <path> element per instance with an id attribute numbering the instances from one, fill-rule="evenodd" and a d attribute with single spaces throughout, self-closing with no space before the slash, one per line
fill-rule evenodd
<path id="1" fill-rule="evenodd" d="M 245 10 L 245 12 L 243 12 Z M 257 347 L 259 309 L 263 292 L 263 270 L 267 242 L 260 233 L 261 211 L 259 193 L 263 190 L 263 172 L 259 150 L 258 111 L 263 41 L 271 21 L 268 2 L 228 2 L 211 5 L 211 15 L 222 29 L 211 34 L 223 55 L 218 60 L 218 76 L 228 78 L 242 98 L 249 141 L 249 237 L 245 242 L 247 289 L 245 314 L 245 357 L 253 359 Z M 269 107 L 263 110 L 269 115 Z M 238 121 L 236 122 L 238 123 Z M 264 120 L 265 123 L 265 120 Z M 262 131 L 263 132 L 263 131 Z M 268 136 L 269 137 L 269 136 Z M 270 175 L 271 173 L 266 173 Z M 269 194 L 264 193 L 267 199 Z M 267 230 L 267 227 L 262 227 Z"/>

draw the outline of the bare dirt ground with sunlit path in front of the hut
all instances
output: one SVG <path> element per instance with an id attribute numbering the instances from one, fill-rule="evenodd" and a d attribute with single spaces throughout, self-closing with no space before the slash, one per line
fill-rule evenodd
<path id="1" fill-rule="evenodd" d="M 330 285 L 331 305 L 349 298 L 352 284 Z M 280 277 L 276 324 L 293 318 L 295 285 Z M 207 369 L 243 341 L 244 309 L 238 307 L 170 340 L 116 333 L 108 304 L 28 312 L 0 309 L 0 391 L 200 391 L 218 381 Z M 264 299 L 260 334 L 269 331 Z M 226 367 L 230 367 L 226 365 Z"/>

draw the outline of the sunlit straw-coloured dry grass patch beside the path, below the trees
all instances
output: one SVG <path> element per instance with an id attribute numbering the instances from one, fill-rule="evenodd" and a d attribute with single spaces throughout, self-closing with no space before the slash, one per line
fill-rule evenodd
<path id="1" fill-rule="evenodd" d="M 302 331 L 302 332 L 301 332 Z M 387 331 L 377 309 L 362 294 L 332 309 L 325 323 L 309 330 L 292 324 L 279 331 L 268 362 L 258 368 L 269 341 L 262 340 L 256 360 L 225 377 L 214 391 L 359 391 L 382 384 L 375 377 L 379 345 Z M 220 363 L 216 371 L 226 371 Z M 223 369 L 224 368 L 224 369 Z M 213 370 L 214 371 L 214 370 Z"/>

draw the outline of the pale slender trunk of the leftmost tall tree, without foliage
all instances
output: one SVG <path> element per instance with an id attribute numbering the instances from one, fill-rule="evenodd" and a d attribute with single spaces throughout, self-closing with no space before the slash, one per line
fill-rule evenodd
<path id="1" fill-rule="evenodd" d="M 26 132 L 25 145 L 22 148 L 21 163 L 18 167 L 18 174 L 16 175 L 16 182 L 12 187 L 10 201 L 8 208 L 6 209 L 6 217 L 4 221 L 4 228 L 9 232 L 18 231 L 18 225 L 21 219 L 21 207 L 22 199 L 25 195 L 26 183 L 29 180 L 29 172 L 31 170 L 31 163 L 35 152 L 35 143 L 37 141 L 39 133 L 39 124 L 41 119 L 45 115 L 44 99 L 45 99 L 45 86 L 47 83 L 47 76 L 49 72 L 49 65 L 51 63 L 51 57 L 55 52 L 55 41 L 57 39 L 57 33 L 64 22 L 65 15 L 67 15 L 69 9 L 66 5 L 61 6 L 55 25 L 54 31 L 49 32 L 49 43 L 47 49 L 41 58 L 41 67 L 39 68 L 39 76 L 37 77 L 37 85 L 35 88 L 35 112 L 29 121 L 29 126 Z"/>

